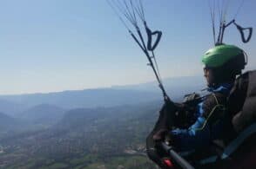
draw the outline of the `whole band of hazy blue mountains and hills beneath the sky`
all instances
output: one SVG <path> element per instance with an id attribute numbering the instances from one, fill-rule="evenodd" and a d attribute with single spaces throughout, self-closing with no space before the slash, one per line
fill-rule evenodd
<path id="1" fill-rule="evenodd" d="M 174 101 L 181 101 L 184 94 L 199 90 L 203 86 L 200 79 L 199 77 L 165 79 L 165 88 Z M 91 119 L 104 119 L 106 115 L 122 119 L 127 116 L 124 114 L 124 107 L 131 115 L 132 112 L 136 112 L 131 107 L 148 102 L 152 104 L 157 102 L 158 105 L 163 103 L 156 81 L 50 94 L 2 95 L 0 96 L 2 122 L 0 122 L 3 127 L 0 127 L 2 133 L 10 134 L 39 131 L 60 123 L 63 127 L 70 127 L 69 125 L 79 124 L 79 121 L 82 124 Z M 0 134 L 1 136 L 3 134 Z"/>

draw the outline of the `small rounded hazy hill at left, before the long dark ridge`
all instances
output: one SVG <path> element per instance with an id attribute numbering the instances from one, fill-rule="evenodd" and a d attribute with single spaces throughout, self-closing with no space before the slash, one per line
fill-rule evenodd
<path id="1" fill-rule="evenodd" d="M 18 115 L 23 120 L 29 120 L 34 124 L 53 125 L 64 115 L 65 110 L 49 104 L 41 104 L 30 107 L 28 110 Z"/>

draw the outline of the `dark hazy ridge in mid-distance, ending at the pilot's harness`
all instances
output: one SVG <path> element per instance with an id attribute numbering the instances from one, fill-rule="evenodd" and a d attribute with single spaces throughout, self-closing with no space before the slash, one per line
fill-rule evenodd
<path id="1" fill-rule="evenodd" d="M 155 113 L 162 104 L 162 101 L 152 101 L 132 106 L 76 108 L 66 112 L 58 125 L 62 128 L 85 127 L 91 124 L 111 124 L 120 120 L 138 118 L 141 115 L 151 116 L 152 114 L 149 114 L 149 112 Z"/>

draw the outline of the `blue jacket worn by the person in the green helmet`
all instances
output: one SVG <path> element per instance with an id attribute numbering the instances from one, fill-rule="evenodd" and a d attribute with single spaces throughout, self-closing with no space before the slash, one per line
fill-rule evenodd
<path id="1" fill-rule="evenodd" d="M 218 88 L 208 88 L 209 95 L 213 95 L 216 101 L 212 101 L 209 108 L 205 108 L 205 102 L 211 98 L 205 97 L 199 102 L 197 106 L 196 121 L 194 124 L 187 129 L 175 129 L 171 131 L 173 146 L 178 151 L 192 151 L 197 148 L 204 148 L 209 146 L 212 140 L 220 139 L 223 134 L 223 128 L 226 127 L 226 121 L 219 119 L 218 123 L 212 126 L 210 118 L 214 114 L 215 109 L 219 106 L 225 105 L 225 103 L 218 101 L 218 96 L 215 94 L 220 93 L 224 95 L 225 100 L 227 95 L 230 93 L 232 84 L 222 84 Z M 207 116 L 205 116 L 207 114 Z"/>

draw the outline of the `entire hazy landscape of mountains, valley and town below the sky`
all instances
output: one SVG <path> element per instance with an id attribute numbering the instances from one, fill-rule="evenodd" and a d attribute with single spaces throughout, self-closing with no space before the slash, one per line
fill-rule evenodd
<path id="1" fill-rule="evenodd" d="M 166 82 L 176 101 L 203 86 L 180 81 L 179 87 Z M 0 168 L 157 168 L 145 154 L 163 105 L 153 87 L 0 96 Z"/>

